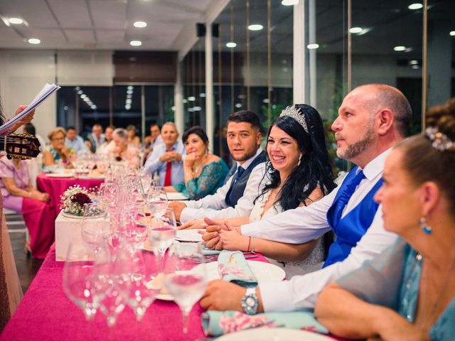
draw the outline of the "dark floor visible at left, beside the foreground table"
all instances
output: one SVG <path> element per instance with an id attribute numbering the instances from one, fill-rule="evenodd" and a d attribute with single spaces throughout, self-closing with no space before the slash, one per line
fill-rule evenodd
<path id="1" fill-rule="evenodd" d="M 14 260 L 21 281 L 22 291 L 26 293 L 28 286 L 43 264 L 42 259 L 27 257 L 24 246 L 26 242 L 26 226 L 23 224 L 21 215 L 6 215 L 11 246 L 13 247 Z"/>

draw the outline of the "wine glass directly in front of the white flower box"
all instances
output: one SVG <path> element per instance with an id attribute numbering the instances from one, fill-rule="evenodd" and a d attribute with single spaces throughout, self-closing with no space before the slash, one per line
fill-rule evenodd
<path id="1" fill-rule="evenodd" d="M 82 238 L 92 245 L 95 252 L 112 237 L 112 228 L 104 207 L 98 202 L 84 205 L 82 215 Z"/>

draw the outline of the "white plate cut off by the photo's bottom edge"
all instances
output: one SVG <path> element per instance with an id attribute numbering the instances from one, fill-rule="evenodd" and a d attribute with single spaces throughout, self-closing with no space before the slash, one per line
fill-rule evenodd
<path id="1" fill-rule="evenodd" d="M 284 328 L 257 328 L 230 332 L 216 339 L 218 341 L 333 341 L 331 337 L 307 332 L 306 330 Z"/>

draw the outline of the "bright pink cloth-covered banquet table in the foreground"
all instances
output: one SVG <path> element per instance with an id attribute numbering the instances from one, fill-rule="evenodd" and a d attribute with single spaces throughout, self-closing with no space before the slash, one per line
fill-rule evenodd
<path id="1" fill-rule="evenodd" d="M 258 255 L 258 261 L 267 261 Z M 141 323 L 128 307 L 120 313 L 111 330 L 100 312 L 87 323 L 82 310 L 63 291 L 63 265 L 63 261 L 55 261 L 53 244 L 0 340 L 185 340 L 181 311 L 176 303 L 169 301 L 154 301 Z M 188 340 L 205 338 L 201 313 L 203 309 L 196 304 L 188 319 Z"/>

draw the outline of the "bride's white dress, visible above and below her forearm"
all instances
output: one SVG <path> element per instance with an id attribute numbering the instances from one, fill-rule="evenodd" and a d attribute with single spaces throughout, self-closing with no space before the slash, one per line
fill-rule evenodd
<path id="1" fill-rule="evenodd" d="M 252 208 L 250 213 L 250 222 L 257 222 L 261 219 L 272 217 L 277 215 L 280 212 L 283 212 L 281 205 L 276 202 L 272 207 L 270 207 L 267 211 L 264 212 L 264 205 L 267 202 L 267 199 L 270 195 L 270 190 L 264 193 L 257 198 L 255 205 Z M 264 215 L 262 215 L 264 212 Z M 316 270 L 321 269 L 323 266 L 323 258 L 324 258 L 324 248 L 323 248 L 323 239 L 319 239 L 318 244 L 311 252 L 311 254 L 304 260 L 304 261 L 276 261 L 274 259 L 267 260 L 279 266 L 280 268 L 284 269 L 286 272 L 287 279 L 291 278 L 292 276 L 296 275 L 304 275 L 308 274 L 309 272 L 313 272 Z"/>

